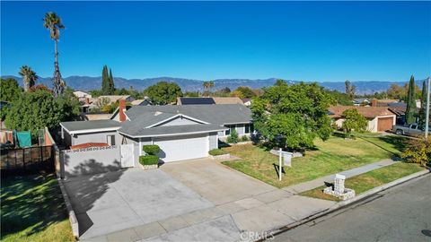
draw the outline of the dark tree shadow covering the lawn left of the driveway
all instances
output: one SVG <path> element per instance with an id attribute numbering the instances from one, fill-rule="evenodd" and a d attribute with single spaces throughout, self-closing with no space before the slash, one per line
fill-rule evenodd
<path id="1" fill-rule="evenodd" d="M 54 174 L 2 180 L 2 238 L 28 228 L 27 235 L 67 218 Z"/>

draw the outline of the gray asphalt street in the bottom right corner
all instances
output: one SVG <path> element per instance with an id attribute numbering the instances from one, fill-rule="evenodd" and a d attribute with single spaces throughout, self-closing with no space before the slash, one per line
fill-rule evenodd
<path id="1" fill-rule="evenodd" d="M 391 187 L 267 241 L 431 241 L 431 175 Z"/>

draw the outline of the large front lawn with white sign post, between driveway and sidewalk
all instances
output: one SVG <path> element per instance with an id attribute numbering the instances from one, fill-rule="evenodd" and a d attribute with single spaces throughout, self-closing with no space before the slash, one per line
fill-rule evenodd
<path id="1" fill-rule="evenodd" d="M 306 151 L 305 156 L 293 159 L 292 168 L 284 168 L 281 182 L 277 177 L 277 156 L 252 144 L 224 148 L 242 160 L 223 163 L 272 186 L 285 187 L 393 158 L 400 154 L 403 140 L 395 136 L 378 136 L 347 141 L 332 136 L 326 142 L 317 140 L 315 145 L 314 151 Z"/>

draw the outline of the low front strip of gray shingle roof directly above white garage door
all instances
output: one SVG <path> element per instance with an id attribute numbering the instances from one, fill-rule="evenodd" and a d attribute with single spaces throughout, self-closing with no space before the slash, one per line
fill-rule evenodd
<path id="1" fill-rule="evenodd" d="M 119 129 L 119 133 L 127 134 L 132 137 L 150 137 L 172 134 L 198 134 L 207 132 L 224 131 L 227 128 L 221 125 L 172 125 L 172 126 L 156 126 L 145 128 L 144 126 L 137 127 L 135 122 L 126 122 Z"/>

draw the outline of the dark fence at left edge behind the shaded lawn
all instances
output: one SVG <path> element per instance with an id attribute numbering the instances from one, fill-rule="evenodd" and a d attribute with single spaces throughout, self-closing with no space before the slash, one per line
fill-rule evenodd
<path id="1" fill-rule="evenodd" d="M 0 150 L 2 177 L 48 173 L 55 170 L 53 146 Z"/>

